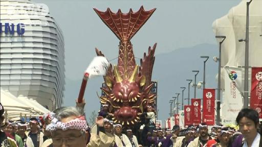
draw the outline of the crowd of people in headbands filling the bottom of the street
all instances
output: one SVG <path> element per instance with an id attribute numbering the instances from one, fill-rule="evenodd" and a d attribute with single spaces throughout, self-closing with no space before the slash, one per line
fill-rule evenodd
<path id="1" fill-rule="evenodd" d="M 1 104 L 1 103 L 0 103 Z M 149 107 L 144 114 L 149 129 L 146 141 L 134 134 L 134 128 L 124 128 L 111 120 L 107 106 L 99 112 L 94 126 L 88 126 L 83 111 L 84 102 L 76 107 L 62 107 L 42 116 L 42 121 L 31 118 L 7 120 L 4 123 L 4 107 L 1 108 L 1 146 L 262 146 L 261 127 L 257 111 L 242 109 L 234 126 L 214 126 L 208 130 L 206 124 L 191 125 L 185 128 L 173 126 L 171 129 L 154 128 L 155 117 Z M 154 113 L 154 112 L 153 112 Z M 143 128 L 143 127 L 142 127 Z M 141 133 L 142 130 L 141 130 Z M 146 143 L 145 143 L 146 142 Z"/>

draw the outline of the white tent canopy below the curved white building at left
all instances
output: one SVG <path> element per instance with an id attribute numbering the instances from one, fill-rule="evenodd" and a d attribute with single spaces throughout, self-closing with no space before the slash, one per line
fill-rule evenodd
<path id="1" fill-rule="evenodd" d="M 1 103 L 5 108 L 5 116 L 8 119 L 19 119 L 21 116 L 41 116 L 50 112 L 35 100 L 29 100 L 23 95 L 16 97 L 3 89 L 1 89 Z"/>

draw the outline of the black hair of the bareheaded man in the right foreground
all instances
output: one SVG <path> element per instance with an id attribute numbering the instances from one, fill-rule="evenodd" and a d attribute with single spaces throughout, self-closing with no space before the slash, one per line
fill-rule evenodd
<path id="1" fill-rule="evenodd" d="M 255 125 L 257 125 L 259 122 L 259 115 L 254 109 L 244 108 L 239 111 L 236 117 L 237 124 L 239 124 L 240 119 L 242 119 L 243 117 L 251 119 L 255 123 Z"/>

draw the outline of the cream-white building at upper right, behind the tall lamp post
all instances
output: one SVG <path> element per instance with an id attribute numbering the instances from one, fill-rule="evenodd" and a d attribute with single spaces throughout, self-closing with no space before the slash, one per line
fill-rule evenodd
<path id="1" fill-rule="evenodd" d="M 221 66 L 243 67 L 245 66 L 245 41 L 246 38 L 246 13 L 250 0 L 243 0 L 237 6 L 231 8 L 225 16 L 216 19 L 213 24 L 215 35 L 226 36 L 221 45 Z M 262 67 L 262 1 L 253 0 L 249 5 L 249 66 Z M 217 39 L 219 44 L 220 39 Z M 219 47 L 217 47 L 219 48 Z M 242 72 L 244 74 L 244 71 Z M 244 77 L 244 75 L 242 76 Z M 249 70 L 251 77 L 251 68 Z M 249 81 L 250 85 L 251 81 Z M 221 70 L 221 88 L 224 89 L 224 70 Z M 238 87 L 241 88 L 241 87 Z M 250 87 L 249 87 L 250 88 Z M 241 89 L 243 91 L 244 89 Z"/>

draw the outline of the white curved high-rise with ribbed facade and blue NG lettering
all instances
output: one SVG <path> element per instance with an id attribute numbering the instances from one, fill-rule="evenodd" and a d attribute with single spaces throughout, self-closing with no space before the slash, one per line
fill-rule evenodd
<path id="1" fill-rule="evenodd" d="M 54 110 L 63 103 L 64 41 L 44 4 L 1 0 L 1 87 Z"/>

